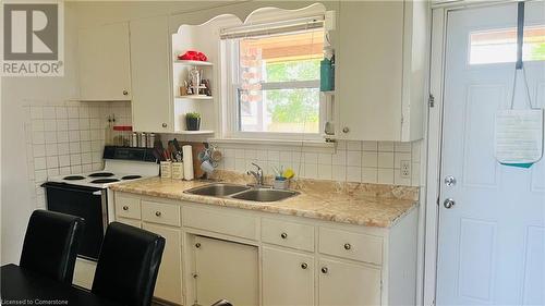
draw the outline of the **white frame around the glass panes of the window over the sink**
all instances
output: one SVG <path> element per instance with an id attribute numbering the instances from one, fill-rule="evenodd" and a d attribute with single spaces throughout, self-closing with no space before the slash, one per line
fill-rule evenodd
<path id="1" fill-rule="evenodd" d="M 322 28 L 324 34 L 325 27 Z M 289 34 L 292 32 L 286 32 Z M 235 39 L 222 40 L 226 51 L 226 63 L 221 69 L 226 69 L 222 75 L 227 76 L 227 97 L 222 99 L 225 112 L 221 114 L 225 122 L 222 137 L 232 139 L 265 139 L 265 140 L 303 140 L 303 142 L 325 142 L 323 126 L 326 122 L 326 102 L 325 97 L 318 94 L 318 132 L 317 133 L 281 133 L 281 132 L 244 132 L 240 128 L 240 103 L 239 90 L 240 83 L 240 49 Z M 264 82 L 262 89 L 298 89 L 298 88 L 317 88 L 319 91 L 320 79 L 311 81 L 290 81 L 290 82 Z"/>

